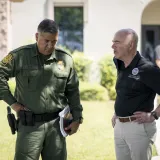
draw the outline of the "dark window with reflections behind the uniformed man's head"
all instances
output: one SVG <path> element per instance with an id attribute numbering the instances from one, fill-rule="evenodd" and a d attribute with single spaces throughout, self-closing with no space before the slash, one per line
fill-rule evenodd
<path id="1" fill-rule="evenodd" d="M 83 7 L 54 7 L 54 19 L 59 25 L 58 45 L 71 52 L 83 51 Z"/>

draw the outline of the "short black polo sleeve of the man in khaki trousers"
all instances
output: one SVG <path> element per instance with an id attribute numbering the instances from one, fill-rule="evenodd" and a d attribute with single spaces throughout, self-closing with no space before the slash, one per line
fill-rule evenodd
<path id="1" fill-rule="evenodd" d="M 145 67 L 140 73 L 141 81 L 160 95 L 160 69 L 154 65 Z"/>

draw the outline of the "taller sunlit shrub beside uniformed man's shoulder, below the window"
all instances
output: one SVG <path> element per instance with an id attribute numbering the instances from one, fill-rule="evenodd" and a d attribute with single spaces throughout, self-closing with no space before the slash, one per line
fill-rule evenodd
<path id="1" fill-rule="evenodd" d="M 74 52 L 72 57 L 79 80 L 88 81 L 88 73 L 92 61 L 81 52 Z"/>

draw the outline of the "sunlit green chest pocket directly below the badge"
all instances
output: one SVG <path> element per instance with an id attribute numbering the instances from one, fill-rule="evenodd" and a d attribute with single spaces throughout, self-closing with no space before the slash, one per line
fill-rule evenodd
<path id="1" fill-rule="evenodd" d="M 68 73 L 66 71 L 55 71 L 55 91 L 57 92 L 64 92 Z"/>

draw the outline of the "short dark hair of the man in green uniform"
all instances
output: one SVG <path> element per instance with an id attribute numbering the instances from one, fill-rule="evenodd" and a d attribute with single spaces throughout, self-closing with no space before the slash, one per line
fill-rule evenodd
<path id="1" fill-rule="evenodd" d="M 57 33 L 58 26 L 55 21 L 51 19 L 44 19 L 40 22 L 37 28 L 38 32 Z"/>

